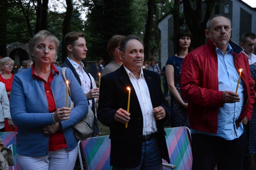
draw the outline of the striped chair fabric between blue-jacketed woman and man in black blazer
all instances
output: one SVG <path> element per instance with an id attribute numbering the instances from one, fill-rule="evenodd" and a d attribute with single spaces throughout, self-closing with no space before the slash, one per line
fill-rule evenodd
<path id="1" fill-rule="evenodd" d="M 88 170 L 112 169 L 110 166 L 110 139 L 108 136 L 87 138 L 81 141 Z"/>

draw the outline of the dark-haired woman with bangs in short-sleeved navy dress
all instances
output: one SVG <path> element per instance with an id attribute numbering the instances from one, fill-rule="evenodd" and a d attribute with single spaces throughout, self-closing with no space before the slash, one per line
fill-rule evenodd
<path id="1" fill-rule="evenodd" d="M 189 30 L 182 29 L 177 33 L 174 50 L 175 55 L 166 62 L 166 78 L 171 96 L 171 125 L 172 127 L 189 126 L 187 101 L 181 95 L 181 67 L 184 57 L 192 50 L 193 39 Z"/>

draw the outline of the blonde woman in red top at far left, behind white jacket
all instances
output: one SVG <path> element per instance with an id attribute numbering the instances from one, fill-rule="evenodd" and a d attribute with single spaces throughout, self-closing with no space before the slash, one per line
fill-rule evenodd
<path id="1" fill-rule="evenodd" d="M 6 89 L 9 100 L 10 100 L 10 94 L 12 89 L 12 81 L 14 77 L 14 74 L 12 73 L 13 65 L 14 65 L 14 61 L 10 57 L 4 57 L 0 60 L 0 68 L 3 71 L 0 75 L 0 82 L 2 82 L 5 85 L 5 89 Z M 12 124 L 12 126 L 9 127 L 8 124 L 10 123 Z M 10 117 L 4 120 L 4 131 L 17 132 L 17 128 L 15 128 L 15 125 L 13 124 L 12 119 Z"/>

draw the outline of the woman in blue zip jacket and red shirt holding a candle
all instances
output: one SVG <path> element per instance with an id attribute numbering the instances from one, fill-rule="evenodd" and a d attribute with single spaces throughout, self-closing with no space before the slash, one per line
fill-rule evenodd
<path id="1" fill-rule="evenodd" d="M 72 71 L 67 69 L 75 107 L 72 111 L 66 107 L 61 68 L 51 63 L 58 46 L 59 40 L 48 31 L 35 34 L 28 43 L 34 63 L 14 76 L 10 109 L 18 126 L 18 162 L 24 170 L 73 170 L 75 166 L 78 141 L 72 126 L 88 113 L 88 103 Z M 68 96 L 68 106 L 70 103 Z"/>

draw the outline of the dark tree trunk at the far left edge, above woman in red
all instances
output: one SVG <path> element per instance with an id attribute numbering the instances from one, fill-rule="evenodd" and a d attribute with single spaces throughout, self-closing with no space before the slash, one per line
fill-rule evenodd
<path id="1" fill-rule="evenodd" d="M 7 10 L 8 10 L 8 0 L 1 0 L 0 1 L 0 55 L 2 57 L 7 56 L 7 50 L 6 50 L 6 23 L 8 19 Z"/>

